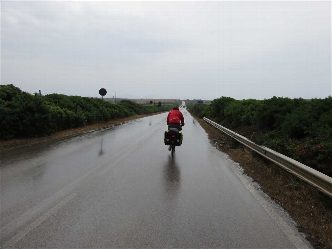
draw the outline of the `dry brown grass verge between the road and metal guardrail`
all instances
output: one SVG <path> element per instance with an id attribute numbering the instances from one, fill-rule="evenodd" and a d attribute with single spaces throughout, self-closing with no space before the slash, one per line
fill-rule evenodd
<path id="1" fill-rule="evenodd" d="M 207 131 L 211 142 L 240 163 L 244 172 L 258 182 L 263 191 L 283 206 L 297 222 L 299 231 L 316 248 L 331 248 L 331 198 L 300 179 L 239 145 L 220 130 L 195 117 Z"/>

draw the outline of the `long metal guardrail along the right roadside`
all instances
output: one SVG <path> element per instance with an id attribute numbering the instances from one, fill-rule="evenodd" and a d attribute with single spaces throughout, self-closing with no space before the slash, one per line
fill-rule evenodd
<path id="1" fill-rule="evenodd" d="M 205 117 L 203 119 L 208 123 L 212 124 L 213 126 L 215 126 L 216 128 L 218 128 L 219 130 L 221 130 L 222 132 L 233 137 L 235 140 L 239 141 L 243 145 L 247 146 L 248 148 L 252 149 L 258 154 L 264 156 L 265 158 L 274 162 L 275 164 L 287 170 L 291 174 L 299 177 L 303 181 L 307 182 L 311 186 L 315 187 L 319 191 L 331 197 L 332 195 L 331 177 L 317 170 L 314 170 L 298 161 L 295 161 L 288 156 L 280 154 L 279 152 L 276 152 L 265 146 L 255 144 L 253 141 L 249 140 L 248 138 L 241 136 L 240 134 L 237 134 L 236 132 L 227 129 L 226 127 L 223 127 L 220 124 L 217 124 Z"/>

